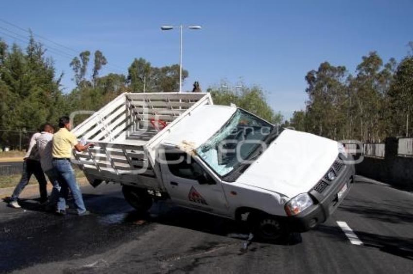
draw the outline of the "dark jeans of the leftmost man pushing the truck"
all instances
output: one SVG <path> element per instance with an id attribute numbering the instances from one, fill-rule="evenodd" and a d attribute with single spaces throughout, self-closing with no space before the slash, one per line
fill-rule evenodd
<path id="1" fill-rule="evenodd" d="M 18 182 L 15 190 L 13 191 L 12 197 L 10 197 L 10 201 L 14 202 L 17 201 L 18 196 L 20 195 L 21 191 L 29 184 L 30 177 L 36 177 L 37 182 L 39 183 L 39 191 L 40 191 L 40 202 L 47 201 L 47 181 L 44 177 L 42 166 L 40 165 L 39 161 L 26 159 L 23 162 L 23 172 L 21 174 L 21 179 Z"/>

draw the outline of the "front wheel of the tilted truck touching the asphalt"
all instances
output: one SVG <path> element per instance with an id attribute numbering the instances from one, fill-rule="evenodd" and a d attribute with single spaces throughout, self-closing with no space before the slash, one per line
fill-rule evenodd
<path id="1" fill-rule="evenodd" d="M 286 240 L 289 234 L 285 222 L 269 214 L 252 214 L 248 218 L 253 227 L 254 236 L 265 241 Z"/>

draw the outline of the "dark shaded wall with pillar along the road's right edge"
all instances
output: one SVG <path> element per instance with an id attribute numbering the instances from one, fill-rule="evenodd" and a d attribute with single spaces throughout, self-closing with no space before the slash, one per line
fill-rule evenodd
<path id="1" fill-rule="evenodd" d="M 386 138 L 384 158 L 363 156 L 356 173 L 396 187 L 413 189 L 413 157 L 398 156 L 398 139 Z"/>

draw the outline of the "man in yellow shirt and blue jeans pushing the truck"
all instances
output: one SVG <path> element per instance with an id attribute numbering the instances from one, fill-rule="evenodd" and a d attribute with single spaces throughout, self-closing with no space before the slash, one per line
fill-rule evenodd
<path id="1" fill-rule="evenodd" d="M 71 166 L 70 158 L 73 148 L 78 152 L 82 152 L 93 146 L 93 143 L 83 145 L 77 141 L 76 136 L 70 132 L 70 120 L 67 116 L 59 119 L 59 128 L 60 130 L 53 136 L 53 169 L 63 179 L 62 184 L 66 186 L 62 186 L 62 190 L 60 191 L 60 196 L 64 199 L 59 199 L 56 213 L 60 215 L 66 214 L 66 190 L 70 188 L 77 214 L 79 216 L 89 215 L 90 212 L 86 210 L 83 202 L 82 192 L 79 184 L 76 182 L 76 176 Z"/>

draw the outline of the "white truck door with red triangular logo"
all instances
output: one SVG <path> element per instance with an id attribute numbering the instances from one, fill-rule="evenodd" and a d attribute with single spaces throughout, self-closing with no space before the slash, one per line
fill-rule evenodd
<path id="1" fill-rule="evenodd" d="M 224 190 L 190 155 L 166 150 L 161 164 L 162 177 L 171 199 L 189 206 L 217 214 L 228 214 Z"/>

